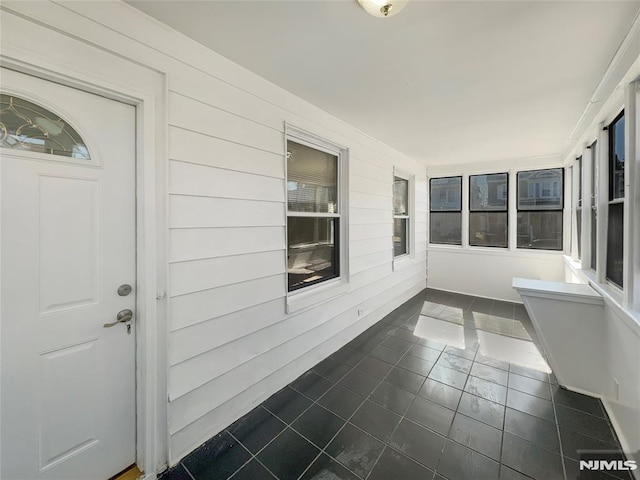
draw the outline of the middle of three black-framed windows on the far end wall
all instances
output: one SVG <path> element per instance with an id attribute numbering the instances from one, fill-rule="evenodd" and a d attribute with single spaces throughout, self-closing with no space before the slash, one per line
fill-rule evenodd
<path id="1" fill-rule="evenodd" d="M 508 180 L 506 173 L 469 176 L 469 245 L 508 246 Z"/>

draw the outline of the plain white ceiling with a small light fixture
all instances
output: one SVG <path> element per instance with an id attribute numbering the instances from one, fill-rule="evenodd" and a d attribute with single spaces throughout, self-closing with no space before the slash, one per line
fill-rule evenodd
<path id="1" fill-rule="evenodd" d="M 640 1 L 131 1 L 427 164 L 563 153 Z"/>

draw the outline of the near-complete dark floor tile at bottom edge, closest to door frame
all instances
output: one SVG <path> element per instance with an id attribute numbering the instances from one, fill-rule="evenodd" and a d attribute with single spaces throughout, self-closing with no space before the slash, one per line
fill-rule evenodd
<path id="1" fill-rule="evenodd" d="M 182 464 L 196 480 L 226 480 L 250 458 L 242 445 L 222 432 L 187 455 Z"/>

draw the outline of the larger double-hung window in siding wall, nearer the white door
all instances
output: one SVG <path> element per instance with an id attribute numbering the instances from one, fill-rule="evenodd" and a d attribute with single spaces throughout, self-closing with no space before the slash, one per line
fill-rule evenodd
<path id="1" fill-rule="evenodd" d="M 287 141 L 289 291 L 340 276 L 338 155 Z"/>

